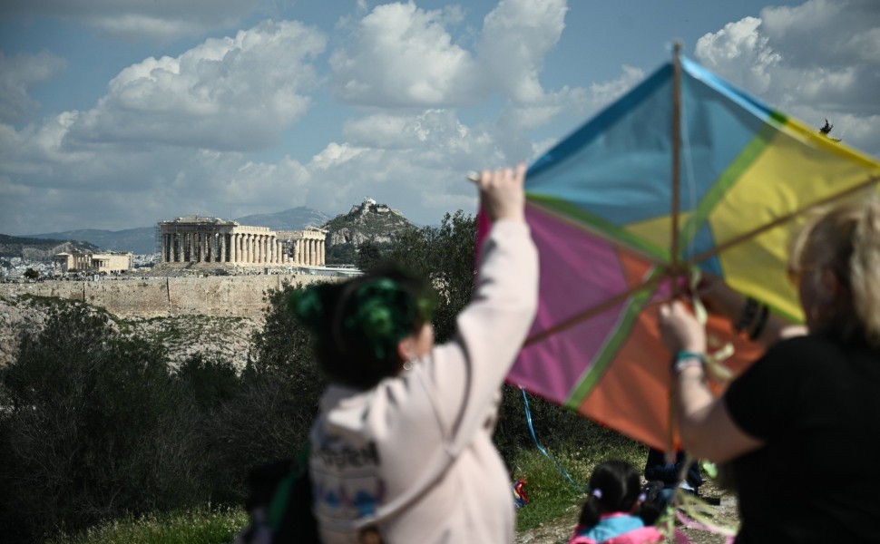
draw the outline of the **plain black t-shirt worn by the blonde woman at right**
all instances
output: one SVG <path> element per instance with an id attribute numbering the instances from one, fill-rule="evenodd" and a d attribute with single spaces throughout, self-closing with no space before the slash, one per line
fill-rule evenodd
<path id="1" fill-rule="evenodd" d="M 733 461 L 737 542 L 880 542 L 880 350 L 803 336 L 768 349 L 724 394 L 766 441 Z"/>

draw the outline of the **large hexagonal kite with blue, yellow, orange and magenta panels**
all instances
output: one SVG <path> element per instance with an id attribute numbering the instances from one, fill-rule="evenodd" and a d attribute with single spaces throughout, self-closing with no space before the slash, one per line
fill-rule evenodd
<path id="1" fill-rule="evenodd" d="M 805 212 L 876 190 L 880 164 L 674 55 L 536 160 L 526 216 L 538 314 L 510 384 L 653 447 L 678 445 L 657 303 L 694 268 L 793 320 L 787 238 Z M 676 283 L 676 285 L 680 285 Z M 729 325 L 734 372 L 759 355 Z"/>

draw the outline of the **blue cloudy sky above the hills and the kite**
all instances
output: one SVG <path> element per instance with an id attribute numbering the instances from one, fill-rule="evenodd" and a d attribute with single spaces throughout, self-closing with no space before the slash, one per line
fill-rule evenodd
<path id="1" fill-rule="evenodd" d="M 0 233 L 364 198 L 435 224 L 670 59 L 880 155 L 880 2 L 5 0 Z"/>

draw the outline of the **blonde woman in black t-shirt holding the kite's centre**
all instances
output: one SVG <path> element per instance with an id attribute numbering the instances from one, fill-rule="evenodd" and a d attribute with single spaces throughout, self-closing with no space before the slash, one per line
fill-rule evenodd
<path id="1" fill-rule="evenodd" d="M 675 354 L 681 439 L 728 462 L 738 543 L 880 541 L 880 201 L 847 202 L 808 222 L 789 273 L 807 327 L 718 286 L 708 306 L 768 345 L 720 397 L 706 386 L 703 329 L 680 302 L 660 308 Z"/>

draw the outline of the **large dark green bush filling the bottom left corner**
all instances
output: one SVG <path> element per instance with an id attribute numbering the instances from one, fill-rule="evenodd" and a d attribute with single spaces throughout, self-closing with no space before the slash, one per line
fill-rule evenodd
<path id="1" fill-rule="evenodd" d="M 58 306 L 0 374 L 0 521 L 22 535 L 194 500 L 191 404 L 160 348 Z"/>

